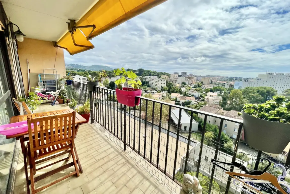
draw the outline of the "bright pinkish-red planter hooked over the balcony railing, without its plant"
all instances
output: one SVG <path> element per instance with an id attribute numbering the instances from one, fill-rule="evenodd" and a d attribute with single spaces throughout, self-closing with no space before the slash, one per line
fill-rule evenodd
<path id="1" fill-rule="evenodd" d="M 135 88 L 123 88 L 123 90 L 116 89 L 117 100 L 119 103 L 124 104 L 126 106 L 138 106 L 140 103 L 140 99 L 136 98 L 136 96 L 141 96 L 142 90 Z M 136 101 L 135 101 L 136 100 Z"/>

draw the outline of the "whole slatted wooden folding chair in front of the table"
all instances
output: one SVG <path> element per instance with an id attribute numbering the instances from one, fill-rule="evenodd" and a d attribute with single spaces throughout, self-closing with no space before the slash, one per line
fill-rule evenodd
<path id="1" fill-rule="evenodd" d="M 39 122 L 39 125 L 37 125 L 37 122 Z M 31 129 L 31 123 L 33 123 L 34 129 Z M 64 180 L 74 174 L 79 176 L 75 153 L 73 151 L 75 139 L 75 111 L 71 113 L 57 114 L 33 119 L 28 118 L 27 124 L 29 142 L 26 146 L 26 151 L 28 154 L 30 167 L 30 181 L 28 183 L 31 184 L 32 194 L 37 193 L 53 184 L 56 184 L 57 182 L 60 182 L 61 180 Z M 67 153 L 69 154 L 67 158 L 52 162 L 51 164 L 36 169 L 37 164 Z M 36 171 L 54 165 L 57 162 L 69 160 L 71 156 L 73 157 L 73 162 L 34 177 Z M 35 182 L 58 173 L 73 165 L 75 166 L 75 171 L 51 182 L 50 184 L 42 186 L 39 189 L 35 189 Z"/>

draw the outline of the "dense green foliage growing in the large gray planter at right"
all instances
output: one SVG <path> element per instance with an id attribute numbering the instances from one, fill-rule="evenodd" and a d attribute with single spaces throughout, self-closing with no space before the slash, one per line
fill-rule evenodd
<path id="1" fill-rule="evenodd" d="M 290 123 L 290 102 L 286 102 L 285 96 L 273 96 L 263 104 L 245 104 L 242 110 L 267 121 Z"/>

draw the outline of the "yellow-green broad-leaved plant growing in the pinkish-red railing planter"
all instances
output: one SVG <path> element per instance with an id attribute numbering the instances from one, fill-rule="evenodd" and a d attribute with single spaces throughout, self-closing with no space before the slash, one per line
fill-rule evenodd
<path id="1" fill-rule="evenodd" d="M 137 75 L 133 71 L 126 71 L 124 67 L 121 69 L 114 69 L 115 75 L 122 75 L 119 80 L 115 81 L 117 84 L 118 89 L 122 90 L 122 84 L 125 82 L 127 83 L 127 91 L 128 91 L 128 84 L 131 84 L 132 88 L 139 89 L 142 85 L 142 82 L 137 78 Z"/>

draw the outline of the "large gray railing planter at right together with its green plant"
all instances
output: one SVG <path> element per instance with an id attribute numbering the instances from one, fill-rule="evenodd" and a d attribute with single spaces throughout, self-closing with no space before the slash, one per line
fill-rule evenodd
<path id="1" fill-rule="evenodd" d="M 242 108 L 244 140 L 255 149 L 280 154 L 290 141 L 290 102 L 273 96 L 263 104 Z"/>

